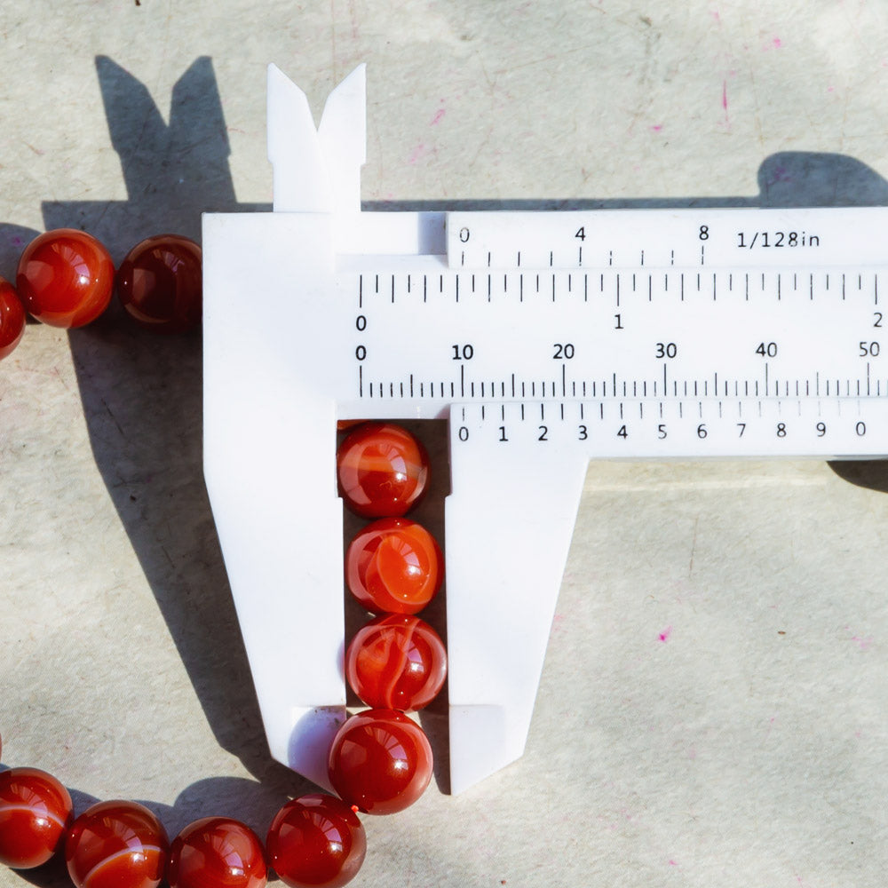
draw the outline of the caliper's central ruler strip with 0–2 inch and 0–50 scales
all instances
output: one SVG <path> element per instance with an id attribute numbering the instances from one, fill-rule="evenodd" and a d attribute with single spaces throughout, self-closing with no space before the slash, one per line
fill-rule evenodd
<path id="1" fill-rule="evenodd" d="M 808 273 L 804 289 L 797 286 L 797 272 L 756 274 L 750 299 L 748 271 L 712 272 L 711 305 L 685 298 L 680 283 L 670 292 L 669 273 L 658 274 L 655 290 L 648 275 L 646 296 L 621 301 L 619 274 L 609 275 L 607 287 L 605 275 L 594 274 L 602 283 L 591 298 L 589 275 L 581 276 L 583 290 L 575 293 L 577 275 L 570 273 L 550 275 L 551 289 L 543 294 L 534 287 L 527 298 L 520 283 L 510 289 L 508 274 L 497 289 L 489 275 L 484 287 L 469 281 L 462 298 L 458 273 L 434 274 L 432 288 L 428 274 L 373 274 L 367 286 L 363 274 L 340 281 L 340 298 L 347 299 L 349 290 L 358 294 L 348 345 L 353 353 L 343 354 L 355 368 L 355 393 L 359 400 L 437 400 L 443 409 L 455 399 L 888 392 L 888 380 L 876 375 L 881 346 L 873 337 L 882 324 L 876 273 L 852 274 L 850 286 L 848 274 Z M 685 276 L 672 274 L 678 281 Z M 796 281 L 788 292 L 781 291 L 784 275 Z M 527 277 L 535 281 L 539 275 Z M 533 338 L 524 332 L 517 341 L 503 317 L 532 324 Z M 422 337 L 416 329 L 423 329 Z M 467 330 L 471 341 L 457 339 Z M 392 338 L 406 343 L 394 355 Z M 418 347 L 411 350 L 410 339 Z"/>

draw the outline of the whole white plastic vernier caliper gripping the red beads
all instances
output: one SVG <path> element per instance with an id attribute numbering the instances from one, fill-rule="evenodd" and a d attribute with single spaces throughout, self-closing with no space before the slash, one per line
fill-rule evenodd
<path id="1" fill-rule="evenodd" d="M 365 79 L 269 68 L 204 218 L 205 469 L 272 754 L 345 718 L 339 419 L 449 420 L 451 789 L 520 757 L 590 459 L 883 456 L 883 208 L 363 212 Z M 885 343 L 888 348 L 888 343 Z"/>

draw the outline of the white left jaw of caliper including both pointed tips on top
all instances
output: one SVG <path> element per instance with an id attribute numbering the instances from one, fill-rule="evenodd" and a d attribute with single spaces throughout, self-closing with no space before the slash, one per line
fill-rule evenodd
<path id="1" fill-rule="evenodd" d="M 345 719 L 329 312 L 337 225 L 360 210 L 363 67 L 318 132 L 270 66 L 268 155 L 274 213 L 203 218 L 204 472 L 269 748 L 329 788 Z"/>

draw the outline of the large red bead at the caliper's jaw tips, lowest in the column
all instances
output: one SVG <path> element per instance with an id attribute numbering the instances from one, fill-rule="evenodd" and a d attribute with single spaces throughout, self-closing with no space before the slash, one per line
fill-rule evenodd
<path id="1" fill-rule="evenodd" d="M 392 814 L 413 805 L 432 779 L 432 747 L 403 712 L 366 710 L 333 738 L 328 760 L 333 789 L 347 805 Z"/>

